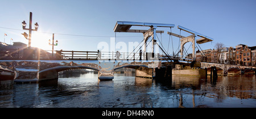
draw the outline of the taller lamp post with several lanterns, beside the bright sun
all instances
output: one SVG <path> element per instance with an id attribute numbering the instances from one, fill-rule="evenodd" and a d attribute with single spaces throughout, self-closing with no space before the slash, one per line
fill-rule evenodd
<path id="1" fill-rule="evenodd" d="M 35 23 L 35 29 L 32 29 L 32 12 L 30 12 L 30 26 L 29 26 L 29 28 L 26 28 L 26 25 L 27 25 L 27 23 L 23 20 L 22 28 L 29 31 L 28 32 L 28 49 L 30 49 L 31 48 L 31 32 L 32 31 L 38 31 L 38 26 L 39 26 L 38 23 L 36 22 Z M 22 33 L 22 35 L 24 35 L 24 34 L 27 35 L 26 32 Z M 24 37 L 27 39 L 27 36 L 24 35 Z"/>

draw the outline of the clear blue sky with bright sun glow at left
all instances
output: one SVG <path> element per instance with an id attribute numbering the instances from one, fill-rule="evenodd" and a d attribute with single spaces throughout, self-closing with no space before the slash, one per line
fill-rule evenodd
<path id="1" fill-rule="evenodd" d="M 29 13 L 32 12 L 32 24 L 36 22 L 39 24 L 38 32 L 32 32 L 32 46 L 43 49 L 51 49 L 48 40 L 52 39 L 51 33 L 56 33 L 55 39 L 59 41 L 59 45 L 55 46 L 56 50 L 96 51 L 98 42 L 109 42 L 110 37 L 115 36 L 113 28 L 118 20 L 175 24 L 172 32 L 177 34 L 179 34 L 177 25 L 181 25 L 214 39 L 213 42 L 201 44 L 203 49 L 213 49 L 217 42 L 222 42 L 225 46 L 256 45 L 256 0 L 3 0 L 1 5 L 0 41 L 3 42 L 4 33 L 6 33 L 5 39 L 8 44 L 11 38 L 14 42 L 28 44 L 20 34 L 28 33 L 22 30 L 21 22 L 25 20 L 28 28 Z M 159 28 L 159 30 L 165 31 L 162 40 L 167 50 L 169 40 L 167 31 L 170 29 Z M 127 44 L 129 41 L 141 42 L 143 39 L 142 33 L 117 33 L 116 35 L 116 42 L 124 41 Z M 181 35 L 189 34 L 183 31 Z M 158 36 L 160 39 L 160 34 Z M 179 39 L 173 37 L 173 41 L 174 50 L 176 50 Z M 185 46 L 188 48 L 189 45 L 188 42 Z M 172 53 L 171 42 L 169 52 Z"/>

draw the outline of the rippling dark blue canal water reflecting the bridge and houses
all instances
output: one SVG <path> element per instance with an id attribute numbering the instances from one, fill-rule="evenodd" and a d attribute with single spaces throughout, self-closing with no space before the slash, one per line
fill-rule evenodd
<path id="1" fill-rule="evenodd" d="M 97 74 L 59 75 L 58 80 L 18 84 L 0 81 L 0 107 L 110 108 L 255 108 L 255 75 L 172 76 L 172 82 L 114 74 L 98 82 Z"/>

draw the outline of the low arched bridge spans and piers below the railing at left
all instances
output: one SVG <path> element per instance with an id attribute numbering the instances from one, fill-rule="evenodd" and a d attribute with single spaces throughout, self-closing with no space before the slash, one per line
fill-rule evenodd
<path id="1" fill-rule="evenodd" d="M 114 70 L 122 67 L 137 69 L 138 76 L 151 77 L 152 69 L 160 67 L 160 61 L 117 60 L 2 60 L 0 70 L 14 74 L 15 82 L 38 82 L 57 79 L 58 72 L 69 69 L 92 69 L 98 71 L 98 79 L 112 80 Z"/>

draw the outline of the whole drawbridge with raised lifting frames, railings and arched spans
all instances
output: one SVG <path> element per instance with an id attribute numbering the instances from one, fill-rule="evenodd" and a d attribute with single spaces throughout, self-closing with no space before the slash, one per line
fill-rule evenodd
<path id="1" fill-rule="evenodd" d="M 130 29 L 132 26 L 149 27 L 147 30 Z M 23 57 L 17 59 L 0 59 L 0 70 L 14 74 L 16 82 L 38 82 L 40 80 L 57 79 L 58 72 L 69 69 L 91 69 L 98 71 L 98 79 L 112 80 L 114 78 L 114 70 L 123 67 L 129 67 L 136 70 L 136 76 L 142 77 L 160 77 L 171 78 L 172 64 L 183 62 L 183 57 L 176 58 L 170 56 L 158 42 L 156 42 L 156 33 L 164 33 L 164 31 L 156 30 L 159 27 L 174 28 L 174 24 L 162 23 L 142 23 L 142 22 L 121 22 L 115 24 L 114 32 L 133 32 L 143 33 L 143 51 L 140 53 L 121 53 L 121 57 L 114 58 L 113 53 L 109 53 L 107 57 L 98 57 L 99 52 L 74 52 L 74 51 L 56 51 L 55 57 L 44 59 L 40 54 L 23 54 Z M 172 32 L 167 32 L 169 35 L 180 37 L 180 50 L 183 56 L 184 44 L 186 42 L 193 43 L 193 58 L 195 58 L 195 42 L 203 44 L 212 41 L 213 39 L 197 33 L 190 29 L 181 27 L 180 30 L 192 33 L 191 36 L 181 36 Z M 201 39 L 196 39 L 201 37 Z M 151 40 L 150 40 L 151 38 Z M 151 42 L 151 51 L 147 50 L 147 42 Z M 155 53 L 155 45 L 163 51 L 163 55 Z M 163 45 L 162 45 L 163 46 Z M 31 52 L 38 53 L 38 52 Z M 11 54 L 11 53 L 10 53 Z M 112 54 L 112 56 L 111 56 Z M 122 56 L 123 54 L 123 56 Z M 130 56 L 130 54 L 133 54 Z M 135 58 L 135 54 L 137 57 Z M 68 56 L 69 55 L 69 56 Z M 79 56 L 76 56 L 79 55 Z M 26 59 L 24 56 L 37 56 L 36 58 Z M 101 56 L 104 56 L 102 54 Z M 111 58 L 112 57 L 112 58 Z M 20 59 L 19 59 L 20 58 Z M 191 60 L 193 61 L 193 59 Z M 171 62 L 171 63 L 170 63 Z M 190 62 L 187 62 L 190 63 Z"/>

